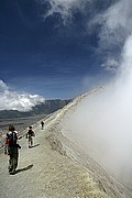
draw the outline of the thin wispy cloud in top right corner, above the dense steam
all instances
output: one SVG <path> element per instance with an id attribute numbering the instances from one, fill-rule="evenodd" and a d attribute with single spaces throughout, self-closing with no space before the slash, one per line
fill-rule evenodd
<path id="1" fill-rule="evenodd" d="M 125 40 L 132 32 L 132 1 L 120 0 L 103 13 L 96 15 L 92 23 L 102 25 L 99 33 L 99 48 L 111 50 L 123 47 Z"/>

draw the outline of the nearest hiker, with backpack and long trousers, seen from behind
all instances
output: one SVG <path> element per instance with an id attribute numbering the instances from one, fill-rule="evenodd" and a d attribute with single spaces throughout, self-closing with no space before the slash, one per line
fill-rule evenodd
<path id="1" fill-rule="evenodd" d="M 9 125 L 9 132 L 6 136 L 6 146 L 4 154 L 9 155 L 9 173 L 15 174 L 15 169 L 18 167 L 18 157 L 19 157 L 19 148 L 21 146 L 18 144 L 18 135 L 15 133 L 15 129 L 12 124 Z"/>

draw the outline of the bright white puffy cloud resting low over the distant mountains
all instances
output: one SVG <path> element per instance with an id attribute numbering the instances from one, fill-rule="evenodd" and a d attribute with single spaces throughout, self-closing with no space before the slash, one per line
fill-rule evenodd
<path id="1" fill-rule="evenodd" d="M 32 107 L 44 102 L 45 99 L 38 95 L 19 94 L 12 91 L 0 80 L 0 110 L 29 111 Z"/>

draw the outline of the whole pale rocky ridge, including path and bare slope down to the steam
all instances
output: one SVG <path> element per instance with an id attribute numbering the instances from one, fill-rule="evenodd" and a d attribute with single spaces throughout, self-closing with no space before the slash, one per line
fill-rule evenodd
<path id="1" fill-rule="evenodd" d="M 81 97 L 78 98 L 81 100 Z M 34 146 L 28 140 L 19 140 L 19 166 L 15 175 L 8 173 L 9 156 L 0 155 L 1 198 L 130 198 L 132 195 L 119 182 L 111 178 L 90 157 L 89 164 L 79 161 L 80 151 L 61 133 L 61 120 L 77 100 L 63 110 L 34 123 Z M 89 167 L 89 168 L 88 168 Z"/>

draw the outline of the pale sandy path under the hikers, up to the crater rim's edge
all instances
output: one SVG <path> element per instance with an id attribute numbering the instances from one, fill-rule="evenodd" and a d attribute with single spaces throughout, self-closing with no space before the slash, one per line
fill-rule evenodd
<path id="1" fill-rule="evenodd" d="M 8 156 L 0 156 L 1 198 L 107 198 L 85 168 L 69 157 L 52 150 L 46 136 L 55 128 L 48 118 L 45 129 L 38 123 L 33 127 L 36 138 L 34 147 L 28 148 L 28 140 L 20 140 L 19 166 L 15 175 L 8 173 Z M 54 144 L 54 143 L 53 143 Z"/>

